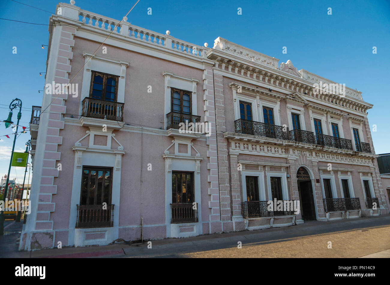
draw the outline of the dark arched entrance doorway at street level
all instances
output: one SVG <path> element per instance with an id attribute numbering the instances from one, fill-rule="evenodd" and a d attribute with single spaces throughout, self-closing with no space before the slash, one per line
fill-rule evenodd
<path id="1" fill-rule="evenodd" d="M 305 167 L 300 167 L 296 172 L 298 182 L 298 193 L 301 206 L 301 215 L 303 220 L 316 220 L 316 209 L 314 204 L 314 195 L 312 181 Z"/>

